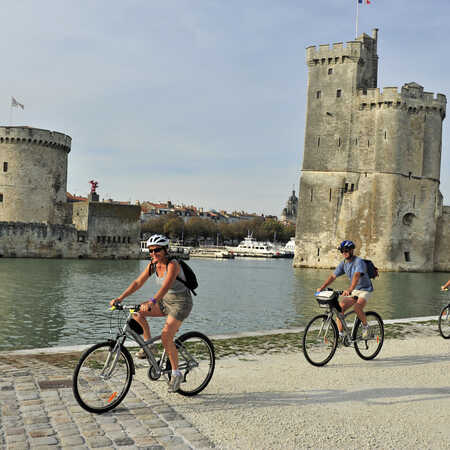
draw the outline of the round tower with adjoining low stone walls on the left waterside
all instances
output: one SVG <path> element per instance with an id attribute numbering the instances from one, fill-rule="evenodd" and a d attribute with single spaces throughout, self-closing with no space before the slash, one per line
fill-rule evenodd
<path id="1" fill-rule="evenodd" d="M 140 206 L 67 195 L 72 139 L 0 127 L 0 256 L 139 257 Z"/>

